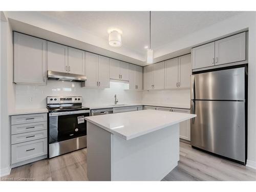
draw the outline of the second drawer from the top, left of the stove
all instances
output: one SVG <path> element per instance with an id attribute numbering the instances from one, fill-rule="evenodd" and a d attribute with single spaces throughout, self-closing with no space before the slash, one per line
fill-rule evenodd
<path id="1" fill-rule="evenodd" d="M 28 133 L 40 130 L 47 130 L 47 121 L 36 122 L 36 123 L 26 123 L 17 124 L 11 126 L 11 134 Z"/>

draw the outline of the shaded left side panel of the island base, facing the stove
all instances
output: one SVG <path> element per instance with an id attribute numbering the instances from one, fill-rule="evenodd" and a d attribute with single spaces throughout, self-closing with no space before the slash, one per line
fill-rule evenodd
<path id="1" fill-rule="evenodd" d="M 111 181 L 113 135 L 87 121 L 87 177 L 89 181 Z"/>

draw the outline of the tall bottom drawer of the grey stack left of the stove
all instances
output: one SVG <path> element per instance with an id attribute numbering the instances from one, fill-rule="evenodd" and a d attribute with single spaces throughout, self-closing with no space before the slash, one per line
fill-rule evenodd
<path id="1" fill-rule="evenodd" d="M 12 164 L 47 154 L 47 138 L 12 145 Z"/>

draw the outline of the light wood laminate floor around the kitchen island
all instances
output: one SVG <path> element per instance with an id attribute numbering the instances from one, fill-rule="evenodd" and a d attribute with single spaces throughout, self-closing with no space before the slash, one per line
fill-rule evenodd
<path id="1" fill-rule="evenodd" d="M 7 178 L 87 181 L 87 149 L 13 168 Z M 25 179 L 23 179 L 25 178 Z M 163 181 L 256 181 L 256 170 L 195 150 L 180 142 L 180 161 Z"/>

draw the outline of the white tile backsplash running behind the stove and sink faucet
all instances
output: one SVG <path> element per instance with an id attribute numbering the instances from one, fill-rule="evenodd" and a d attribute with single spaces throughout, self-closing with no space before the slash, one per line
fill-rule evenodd
<path id="1" fill-rule="evenodd" d="M 141 91 L 123 90 L 122 83 L 111 82 L 108 89 L 81 88 L 80 82 L 48 80 L 47 86 L 16 84 L 16 109 L 46 108 L 47 96 L 82 96 L 83 106 L 119 103 L 140 103 Z"/>

